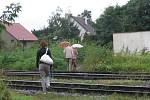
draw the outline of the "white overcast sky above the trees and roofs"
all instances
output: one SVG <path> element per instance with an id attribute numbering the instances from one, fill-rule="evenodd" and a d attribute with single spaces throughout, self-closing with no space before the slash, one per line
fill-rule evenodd
<path id="1" fill-rule="evenodd" d="M 85 9 L 92 11 L 93 21 L 97 19 L 108 6 L 124 5 L 129 0 L 0 0 L 0 15 L 5 6 L 10 3 L 20 3 L 22 12 L 16 23 L 22 24 L 29 31 L 42 29 L 47 26 L 47 20 L 59 6 L 63 12 L 69 9 L 74 16 L 81 14 Z"/>

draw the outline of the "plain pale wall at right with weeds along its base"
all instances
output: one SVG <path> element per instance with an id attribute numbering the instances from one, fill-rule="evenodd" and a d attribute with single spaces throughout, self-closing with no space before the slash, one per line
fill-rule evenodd
<path id="1" fill-rule="evenodd" d="M 114 33 L 113 50 L 114 53 L 150 51 L 150 31 Z"/>

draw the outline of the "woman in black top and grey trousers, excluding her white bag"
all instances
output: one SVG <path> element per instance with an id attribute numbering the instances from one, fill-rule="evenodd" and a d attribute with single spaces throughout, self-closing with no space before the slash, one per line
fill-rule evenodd
<path id="1" fill-rule="evenodd" d="M 40 41 L 40 48 L 37 51 L 37 56 L 36 56 L 36 66 L 39 68 L 40 76 L 41 76 L 41 84 L 43 88 L 44 94 L 46 94 L 47 89 L 50 87 L 50 80 L 49 80 L 49 74 L 50 74 L 50 69 L 52 67 L 52 64 L 47 64 L 45 62 L 42 62 L 40 59 L 41 57 L 46 53 L 49 55 L 50 58 L 52 58 L 51 51 L 48 49 L 48 43 L 45 40 Z"/>

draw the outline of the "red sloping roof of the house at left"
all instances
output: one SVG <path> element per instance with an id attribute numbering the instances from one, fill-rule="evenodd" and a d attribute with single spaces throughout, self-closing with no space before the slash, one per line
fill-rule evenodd
<path id="1" fill-rule="evenodd" d="M 38 40 L 38 38 L 34 34 L 29 32 L 19 23 L 12 23 L 11 25 L 5 25 L 5 27 L 6 31 L 13 37 L 15 37 L 17 40 Z"/>

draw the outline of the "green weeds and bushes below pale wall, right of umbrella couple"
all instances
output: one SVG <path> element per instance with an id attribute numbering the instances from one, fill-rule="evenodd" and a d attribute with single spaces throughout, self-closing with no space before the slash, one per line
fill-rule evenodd
<path id="1" fill-rule="evenodd" d="M 102 47 L 90 45 L 86 48 L 81 66 L 86 71 L 150 72 L 150 54 L 115 55 Z"/>

